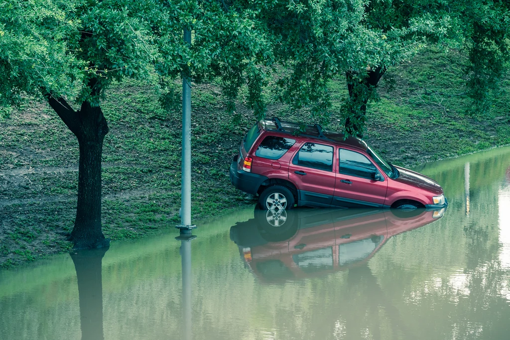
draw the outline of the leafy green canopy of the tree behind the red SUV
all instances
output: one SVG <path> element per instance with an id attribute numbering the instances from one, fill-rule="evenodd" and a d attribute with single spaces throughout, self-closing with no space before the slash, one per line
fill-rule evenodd
<path id="1" fill-rule="evenodd" d="M 350 112 L 351 134 L 363 129 L 361 111 L 376 98 L 373 86 L 364 84 L 370 73 L 410 59 L 427 39 L 445 37 L 450 25 L 447 14 L 427 11 L 402 13 L 394 25 L 389 13 L 363 0 L 193 3 L 199 19 L 189 20 L 196 34 L 192 48 L 220 44 L 217 53 L 200 55 L 200 63 L 210 65 L 206 74 L 221 77 L 231 104 L 247 85 L 249 106 L 262 117 L 262 89 L 276 79 L 272 90 L 279 99 L 310 107 L 315 120 L 327 124 L 338 114 L 331 112 L 328 83 L 349 74 L 352 94 L 344 110 Z"/>

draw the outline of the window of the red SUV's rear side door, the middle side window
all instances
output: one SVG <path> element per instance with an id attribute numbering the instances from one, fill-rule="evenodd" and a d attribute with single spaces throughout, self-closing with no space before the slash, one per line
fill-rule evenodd
<path id="1" fill-rule="evenodd" d="M 317 143 L 305 143 L 294 156 L 292 164 L 333 171 L 333 147 Z"/>

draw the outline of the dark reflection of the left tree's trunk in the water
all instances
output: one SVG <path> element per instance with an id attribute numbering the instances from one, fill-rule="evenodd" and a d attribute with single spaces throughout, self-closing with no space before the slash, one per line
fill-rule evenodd
<path id="1" fill-rule="evenodd" d="M 103 340 L 103 279 L 101 264 L 110 247 L 70 253 L 78 279 L 82 340 Z"/>

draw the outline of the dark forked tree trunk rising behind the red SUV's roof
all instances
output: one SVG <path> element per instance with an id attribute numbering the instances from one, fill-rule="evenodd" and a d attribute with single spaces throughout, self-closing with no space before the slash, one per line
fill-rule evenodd
<path id="1" fill-rule="evenodd" d="M 351 135 L 356 135 L 363 138 L 363 126 L 360 122 L 365 121 L 365 114 L 367 113 L 367 102 L 369 91 L 373 91 L 377 86 L 377 83 L 382 78 L 382 75 L 386 72 L 386 67 L 377 66 L 375 69 L 370 69 L 367 72 L 367 76 L 358 84 L 360 89 L 354 89 L 354 84 L 357 82 L 355 79 L 355 71 L 346 72 L 347 90 L 349 91 L 349 98 L 351 103 L 357 103 L 359 105 L 359 111 L 352 109 L 350 115 L 345 120 L 345 131 Z M 359 98 L 360 92 L 363 93 L 363 98 Z M 354 104 L 356 105 L 356 104 Z M 356 119 L 351 119 L 356 118 Z"/>

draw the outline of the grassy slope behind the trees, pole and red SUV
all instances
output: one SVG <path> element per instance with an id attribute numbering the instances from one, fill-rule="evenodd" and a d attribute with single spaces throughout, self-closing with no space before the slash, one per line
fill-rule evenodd
<path id="1" fill-rule="evenodd" d="M 395 164 L 452 157 L 510 143 L 510 105 L 494 94 L 492 117 L 465 114 L 461 55 L 428 51 L 411 64 L 388 71 L 381 101 L 369 106 L 368 140 Z M 505 80 L 502 89 L 509 87 Z M 180 85 L 176 103 L 162 110 L 154 87 L 125 82 L 108 90 L 103 109 L 110 126 L 105 139 L 103 225 L 113 240 L 137 238 L 175 225 L 180 206 Z M 334 105 L 346 95 L 343 79 L 330 85 Z M 254 119 L 238 104 L 233 126 L 219 90 L 194 87 L 193 217 L 224 213 L 253 199 L 235 190 L 228 165 Z M 306 110 L 273 103 L 268 116 L 306 121 Z M 342 114 L 330 128 L 340 128 Z M 0 122 L 0 266 L 31 261 L 68 249 L 77 190 L 78 143 L 44 103 L 29 103 Z"/>

